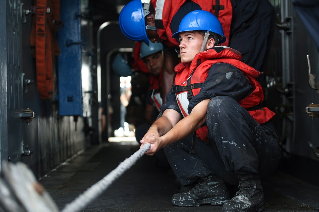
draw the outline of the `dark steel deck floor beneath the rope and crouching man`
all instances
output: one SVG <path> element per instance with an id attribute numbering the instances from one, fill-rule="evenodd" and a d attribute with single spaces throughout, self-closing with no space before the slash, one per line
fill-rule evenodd
<path id="1" fill-rule="evenodd" d="M 92 146 L 63 163 L 39 182 L 60 209 L 101 180 L 120 162 L 130 157 L 137 142 L 109 142 Z M 171 204 L 179 192 L 171 169 L 158 166 L 144 155 L 97 199 L 82 211 L 221 211 L 222 206 L 178 207 Z M 264 211 L 319 211 L 319 188 L 276 172 L 263 182 Z"/>

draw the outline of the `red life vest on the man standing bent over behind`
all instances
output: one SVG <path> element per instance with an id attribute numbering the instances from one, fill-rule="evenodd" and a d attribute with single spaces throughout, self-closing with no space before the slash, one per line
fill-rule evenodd
<path id="1" fill-rule="evenodd" d="M 209 11 L 214 14 L 223 26 L 226 41 L 223 46 L 228 46 L 230 25 L 233 16 L 233 7 L 231 0 L 191 0 L 198 4 L 204 11 Z M 176 39 L 172 38 L 170 28 L 172 18 L 186 0 L 151 0 L 154 7 L 155 23 L 159 38 L 164 40 L 168 47 L 179 46 Z"/>

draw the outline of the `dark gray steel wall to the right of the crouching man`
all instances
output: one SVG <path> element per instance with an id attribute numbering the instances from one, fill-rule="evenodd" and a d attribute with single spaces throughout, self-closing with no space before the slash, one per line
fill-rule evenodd
<path id="1" fill-rule="evenodd" d="M 319 93 L 308 85 L 306 57 L 310 55 L 313 74 L 318 76 L 318 51 L 296 14 L 292 1 L 270 2 L 274 6 L 278 26 L 267 69 L 269 76 L 265 98 L 272 110 L 277 107 L 283 111 L 277 111 L 275 118 L 283 156 L 290 158 L 297 155 L 318 162 L 307 141 L 319 146 L 319 118 L 312 120 L 305 112 L 310 103 L 319 103 Z M 286 24 L 287 29 L 280 28 L 280 24 Z"/>

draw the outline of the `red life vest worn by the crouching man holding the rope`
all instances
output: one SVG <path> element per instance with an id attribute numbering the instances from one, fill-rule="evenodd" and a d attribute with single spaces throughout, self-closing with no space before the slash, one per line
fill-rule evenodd
<path id="1" fill-rule="evenodd" d="M 218 51 L 217 48 L 219 48 Z M 221 50 L 220 48 L 224 49 Z M 228 63 L 238 68 L 254 88 L 251 94 L 238 101 L 243 108 L 249 109 L 263 102 L 263 89 L 255 79 L 263 73 L 260 73 L 240 60 L 241 54 L 238 51 L 226 46 L 218 46 L 198 53 L 190 65 L 184 63 L 178 64 L 175 67 L 177 74 L 175 84 L 172 86 L 172 91 L 175 92 L 176 100 L 183 116 L 186 117 L 189 115 L 187 109 L 189 100 L 192 96 L 199 93 L 201 85 L 207 78 L 211 66 L 215 63 Z M 259 124 L 269 121 L 275 115 L 274 112 L 266 107 L 248 112 Z M 196 136 L 206 141 L 208 137 L 207 125 L 197 129 Z"/>

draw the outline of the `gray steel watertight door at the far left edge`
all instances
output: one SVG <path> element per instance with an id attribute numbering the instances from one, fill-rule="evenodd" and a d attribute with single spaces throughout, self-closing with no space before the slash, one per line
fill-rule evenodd
<path id="1" fill-rule="evenodd" d="M 0 1 L 0 158 L 16 162 L 24 151 L 21 1 Z"/>

